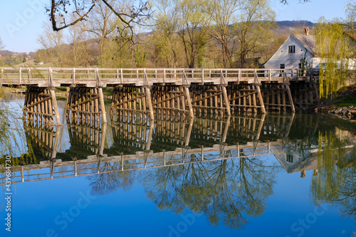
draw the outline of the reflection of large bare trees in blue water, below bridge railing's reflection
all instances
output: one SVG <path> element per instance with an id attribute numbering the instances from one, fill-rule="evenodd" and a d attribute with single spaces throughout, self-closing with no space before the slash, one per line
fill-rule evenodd
<path id="1" fill-rule="evenodd" d="M 249 216 L 265 211 L 276 183 L 275 169 L 263 159 L 243 157 L 164 167 L 145 172 L 140 181 L 160 210 L 179 214 L 187 207 L 204 214 L 211 225 L 244 228 Z"/>

